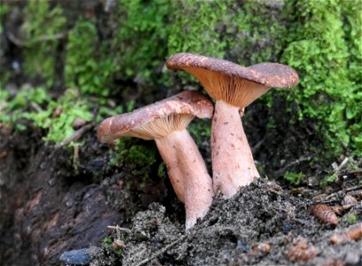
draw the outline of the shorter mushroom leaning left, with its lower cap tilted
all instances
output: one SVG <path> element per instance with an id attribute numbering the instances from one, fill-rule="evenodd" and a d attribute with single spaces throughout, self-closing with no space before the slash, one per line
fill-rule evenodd
<path id="1" fill-rule="evenodd" d="M 212 118 L 213 106 L 204 95 L 185 90 L 132 113 L 102 121 L 99 141 L 112 144 L 123 136 L 154 139 L 166 163 L 174 192 L 185 204 L 186 229 L 203 218 L 212 204 L 212 178 L 187 127 L 195 117 Z"/>

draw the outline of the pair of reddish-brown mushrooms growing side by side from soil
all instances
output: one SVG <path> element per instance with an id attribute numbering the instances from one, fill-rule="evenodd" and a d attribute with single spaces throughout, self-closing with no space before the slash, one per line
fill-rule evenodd
<path id="1" fill-rule="evenodd" d="M 215 193 L 230 198 L 259 177 L 243 131 L 243 110 L 272 87 L 297 85 L 298 75 L 277 63 L 243 67 L 191 53 L 173 55 L 166 66 L 195 76 L 215 100 L 215 107 L 204 95 L 185 90 L 132 113 L 107 118 L 97 137 L 109 144 L 122 136 L 155 140 L 174 192 L 185 204 L 189 229 L 206 215 Z M 187 130 L 195 117 L 212 119 L 212 177 Z"/>

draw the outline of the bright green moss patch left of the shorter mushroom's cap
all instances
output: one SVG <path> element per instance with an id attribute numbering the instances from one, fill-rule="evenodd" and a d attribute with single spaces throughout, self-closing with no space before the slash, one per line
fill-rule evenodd
<path id="1" fill-rule="evenodd" d="M 0 121 L 20 130 L 26 129 L 27 121 L 33 121 L 36 127 L 46 129 L 43 140 L 47 142 L 65 141 L 73 135 L 76 118 L 91 121 L 93 117 L 89 104 L 74 90 L 65 91 L 63 97 L 54 101 L 44 88 L 23 88 L 12 99 L 7 93 L 0 93 L 0 103 Z"/>

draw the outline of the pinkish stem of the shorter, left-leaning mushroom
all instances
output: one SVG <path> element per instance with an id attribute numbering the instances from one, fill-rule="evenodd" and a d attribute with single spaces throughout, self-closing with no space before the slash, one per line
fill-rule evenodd
<path id="1" fill-rule="evenodd" d="M 177 197 L 185 204 L 186 229 L 203 218 L 212 205 L 212 178 L 203 157 L 187 129 L 156 138 L 156 145 L 167 166 Z"/>

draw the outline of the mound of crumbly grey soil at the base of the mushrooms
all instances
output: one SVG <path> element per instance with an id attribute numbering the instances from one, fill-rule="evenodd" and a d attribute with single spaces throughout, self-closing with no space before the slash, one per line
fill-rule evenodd
<path id="1" fill-rule="evenodd" d="M 351 254 L 360 260 L 362 241 L 330 246 L 328 239 L 341 224 L 334 229 L 320 223 L 311 207 L 312 200 L 258 180 L 229 200 L 214 200 L 204 221 L 185 232 L 167 217 L 165 207 L 154 203 L 135 215 L 122 265 L 319 265 L 343 262 Z M 290 254 L 297 239 L 307 243 L 300 262 Z M 258 250 L 260 243 L 269 247 Z"/>

